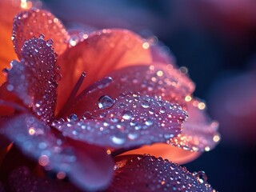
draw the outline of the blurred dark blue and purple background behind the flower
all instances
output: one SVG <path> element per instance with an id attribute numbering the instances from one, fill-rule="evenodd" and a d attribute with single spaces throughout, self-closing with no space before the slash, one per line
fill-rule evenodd
<path id="1" fill-rule="evenodd" d="M 186 66 L 222 142 L 185 166 L 218 191 L 253 191 L 256 171 L 255 0 L 45 0 L 70 29 L 122 27 L 157 37 Z M 75 23 L 74 23 L 75 22 Z M 155 35 L 155 37 L 154 37 Z M 168 48 L 167 48 L 168 47 Z"/>

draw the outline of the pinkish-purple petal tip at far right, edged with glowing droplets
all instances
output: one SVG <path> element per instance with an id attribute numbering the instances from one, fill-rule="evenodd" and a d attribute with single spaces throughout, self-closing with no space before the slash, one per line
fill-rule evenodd
<path id="1" fill-rule="evenodd" d="M 182 125 L 182 134 L 170 139 L 170 145 L 181 147 L 184 150 L 209 151 L 220 140 L 218 122 L 208 118 L 205 104 L 198 100 L 187 103 L 189 118 Z"/>

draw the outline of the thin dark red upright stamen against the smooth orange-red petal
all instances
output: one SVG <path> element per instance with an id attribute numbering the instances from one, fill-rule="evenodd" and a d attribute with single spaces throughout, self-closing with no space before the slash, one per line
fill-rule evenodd
<path id="1" fill-rule="evenodd" d="M 70 97 L 66 100 L 65 105 L 62 107 L 62 110 L 59 111 L 56 118 L 62 117 L 62 115 L 65 113 L 65 111 L 70 107 L 71 103 L 74 101 L 74 98 L 76 94 L 78 93 L 78 90 L 80 89 L 83 80 L 86 78 L 86 72 L 82 72 L 80 78 L 78 79 L 78 82 L 75 84 L 74 89 L 72 90 Z"/>

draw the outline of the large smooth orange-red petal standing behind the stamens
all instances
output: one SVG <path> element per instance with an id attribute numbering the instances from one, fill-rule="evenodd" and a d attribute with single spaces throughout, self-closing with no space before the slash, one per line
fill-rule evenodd
<path id="1" fill-rule="evenodd" d="M 102 30 L 89 35 L 83 42 L 66 50 L 58 58 L 61 66 L 62 82 L 58 87 L 58 110 L 71 93 L 82 72 L 86 81 L 81 90 L 110 71 L 138 63 L 149 65 L 150 49 L 143 48 L 143 41 L 128 30 Z"/>

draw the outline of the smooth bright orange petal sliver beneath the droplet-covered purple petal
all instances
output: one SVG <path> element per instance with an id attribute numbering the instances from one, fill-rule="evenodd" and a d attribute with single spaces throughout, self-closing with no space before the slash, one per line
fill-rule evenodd
<path id="1" fill-rule="evenodd" d="M 168 159 L 171 162 L 184 164 L 198 158 L 201 153 L 182 150 L 178 147 L 170 146 L 166 143 L 156 143 L 151 146 L 142 146 L 136 150 L 129 150 L 121 155 L 126 154 L 150 154 L 157 158 L 162 157 L 164 159 Z"/>

